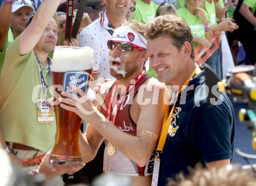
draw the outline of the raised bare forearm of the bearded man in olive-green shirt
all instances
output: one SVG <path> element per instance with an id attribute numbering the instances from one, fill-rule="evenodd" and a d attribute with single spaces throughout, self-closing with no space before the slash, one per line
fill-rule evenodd
<path id="1" fill-rule="evenodd" d="M 41 38 L 42 32 L 54 16 L 61 0 L 44 0 L 35 12 L 33 20 L 20 38 L 20 55 L 25 55 L 34 49 Z"/>

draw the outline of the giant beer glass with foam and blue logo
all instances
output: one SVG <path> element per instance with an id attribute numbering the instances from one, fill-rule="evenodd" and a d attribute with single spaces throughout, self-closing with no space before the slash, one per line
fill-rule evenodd
<path id="1" fill-rule="evenodd" d="M 70 85 L 87 92 L 90 74 L 93 71 L 93 49 L 89 47 L 56 46 L 52 59 L 52 81 L 55 100 L 61 92 L 70 92 Z M 57 134 L 51 163 L 59 165 L 81 165 L 83 159 L 79 149 L 81 118 L 74 112 L 55 105 Z"/>

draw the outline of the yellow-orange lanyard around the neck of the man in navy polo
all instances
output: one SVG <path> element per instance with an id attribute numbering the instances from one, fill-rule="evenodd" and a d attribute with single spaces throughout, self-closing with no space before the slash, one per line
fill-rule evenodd
<path id="1" fill-rule="evenodd" d="M 189 76 L 189 78 L 187 79 L 187 81 L 184 83 L 184 85 L 182 86 L 182 89 L 179 90 L 179 94 L 184 90 L 184 88 L 189 85 L 190 79 L 193 78 L 193 76 L 195 74 L 199 74 L 201 72 L 201 69 L 197 66 L 195 68 L 195 70 L 192 72 L 192 74 Z M 179 95 L 178 94 L 178 95 Z M 176 100 L 177 101 L 177 100 Z M 170 126 L 170 122 L 172 121 L 172 115 L 173 115 L 173 111 L 175 109 L 175 105 L 176 105 L 176 101 L 175 104 L 173 104 L 172 106 L 172 110 L 170 111 L 170 114 L 168 116 L 168 108 L 166 108 L 165 111 L 165 119 L 163 120 L 163 126 L 162 126 L 162 130 L 161 130 L 161 135 L 159 138 L 159 142 L 158 142 L 158 146 L 157 146 L 157 152 L 161 153 L 163 150 L 163 145 L 165 145 L 165 141 L 167 138 L 167 134 L 168 134 L 168 130 L 169 130 L 169 126 Z"/>

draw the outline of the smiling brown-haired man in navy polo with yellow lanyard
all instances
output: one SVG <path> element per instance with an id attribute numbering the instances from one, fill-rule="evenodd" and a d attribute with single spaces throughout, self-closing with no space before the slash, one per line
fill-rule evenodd
<path id="1" fill-rule="evenodd" d="M 158 186 L 179 172 L 187 174 L 198 162 L 208 168 L 229 164 L 235 129 L 232 104 L 226 94 L 207 103 L 205 74 L 195 61 L 190 27 L 175 16 L 160 16 L 147 24 L 146 35 L 151 67 L 159 81 L 172 85 L 172 97 L 177 95 L 159 139 Z"/>

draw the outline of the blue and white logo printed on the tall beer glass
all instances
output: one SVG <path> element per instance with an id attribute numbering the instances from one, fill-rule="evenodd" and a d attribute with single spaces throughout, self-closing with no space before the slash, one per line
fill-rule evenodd
<path id="1" fill-rule="evenodd" d="M 87 72 L 80 72 L 80 71 L 66 72 L 63 77 L 63 92 L 72 93 L 70 86 L 74 85 L 79 87 L 81 90 L 83 90 L 84 93 L 86 93 L 88 79 L 89 79 L 89 75 Z"/>

